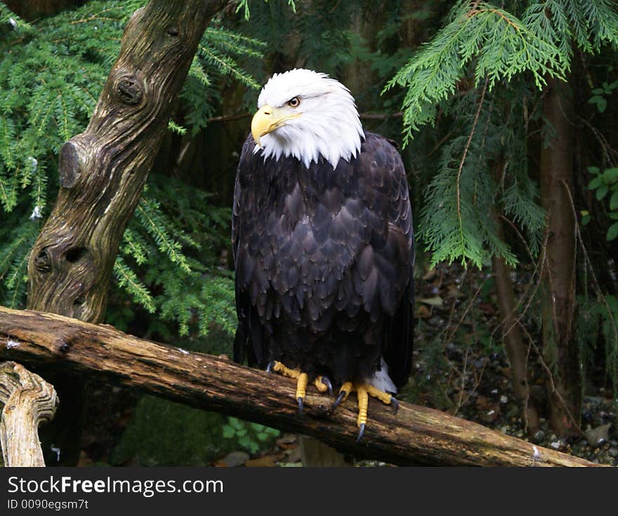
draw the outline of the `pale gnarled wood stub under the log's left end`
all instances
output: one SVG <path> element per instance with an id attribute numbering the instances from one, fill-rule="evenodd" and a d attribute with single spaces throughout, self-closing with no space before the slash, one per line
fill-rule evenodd
<path id="1" fill-rule="evenodd" d="M 41 376 L 15 362 L 0 364 L 0 444 L 4 466 L 45 466 L 38 428 L 53 418 L 58 396 Z"/>

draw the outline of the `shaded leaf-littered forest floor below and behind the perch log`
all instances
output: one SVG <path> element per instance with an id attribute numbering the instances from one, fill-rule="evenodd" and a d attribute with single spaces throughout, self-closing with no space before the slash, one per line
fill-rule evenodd
<path id="1" fill-rule="evenodd" d="M 520 276 L 526 279 L 525 274 Z M 445 410 L 534 444 L 618 466 L 616 405 L 603 374 L 586 381 L 580 426 L 584 435 L 560 439 L 541 418 L 539 430 L 529 436 L 513 395 L 501 336 L 495 330 L 500 315 L 491 274 L 453 264 L 426 268 L 417 283 L 414 374 L 397 398 Z M 515 281 L 515 288 L 523 291 L 525 285 Z M 536 338 L 538 330 L 531 328 L 538 324 L 533 316 L 522 322 Z M 532 353 L 530 366 L 531 399 L 542 412 L 539 400 L 545 373 Z M 111 386 L 93 388 L 86 421 L 82 466 L 301 466 L 296 435 L 157 398 L 138 399 Z M 196 432 L 196 428 L 203 431 Z M 357 466 L 381 466 L 350 459 Z"/>

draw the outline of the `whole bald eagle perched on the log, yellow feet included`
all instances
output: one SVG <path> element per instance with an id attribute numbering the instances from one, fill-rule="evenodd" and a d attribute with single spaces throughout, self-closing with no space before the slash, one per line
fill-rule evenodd
<path id="1" fill-rule="evenodd" d="M 349 90 L 326 74 L 275 74 L 258 97 L 237 168 L 232 250 L 237 362 L 352 391 L 359 439 L 368 396 L 412 365 L 414 234 L 397 149 L 363 130 Z"/>

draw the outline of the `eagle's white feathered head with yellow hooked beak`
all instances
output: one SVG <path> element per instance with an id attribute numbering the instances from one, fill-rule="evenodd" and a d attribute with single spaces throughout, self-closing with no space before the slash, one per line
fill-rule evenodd
<path id="1" fill-rule="evenodd" d="M 327 74 L 296 68 L 273 75 L 251 121 L 254 149 L 265 158 L 294 156 L 309 167 L 322 156 L 333 168 L 360 151 L 364 137 L 350 91 Z"/>

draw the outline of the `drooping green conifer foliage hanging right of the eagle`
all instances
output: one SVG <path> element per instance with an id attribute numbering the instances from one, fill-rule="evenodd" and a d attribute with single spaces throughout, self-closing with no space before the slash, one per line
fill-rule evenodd
<path id="1" fill-rule="evenodd" d="M 515 264 L 487 217 L 490 205 L 503 205 L 538 252 L 544 212 L 537 187 L 527 179 L 522 133 L 527 128 L 522 121 L 540 117 L 528 111 L 530 100 L 548 77 L 565 78 L 572 41 L 589 53 L 618 45 L 618 8 L 610 0 L 504 4 L 511 10 L 485 1 L 457 2 L 445 27 L 385 88 L 405 88 L 405 143 L 439 114 L 456 121 L 459 136 L 442 147 L 440 170 L 428 186 L 419 222 L 433 263 L 460 259 L 481 266 L 498 254 Z M 490 172 L 497 149 L 506 163 L 499 178 Z M 433 216 L 436 212 L 442 217 Z"/>

